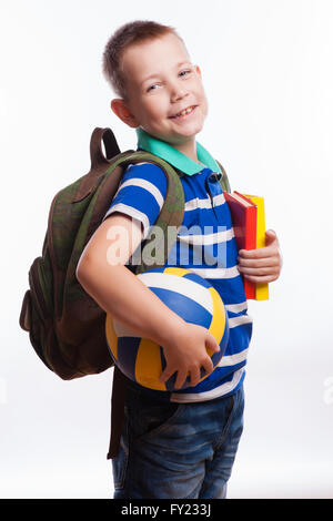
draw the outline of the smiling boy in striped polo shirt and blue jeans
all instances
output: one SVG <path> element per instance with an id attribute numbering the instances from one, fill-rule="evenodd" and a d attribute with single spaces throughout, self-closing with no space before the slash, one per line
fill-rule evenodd
<path id="1" fill-rule="evenodd" d="M 103 69 L 119 95 L 111 102 L 112 111 L 137 129 L 138 147 L 182 173 L 183 225 L 186 229 L 199 226 L 202 232 L 179 234 L 175 263 L 180 265 L 184 243 L 192 253 L 204 251 L 200 265 L 193 262 L 183 267 L 214 285 L 230 325 L 226 353 L 213 370 L 206 348 L 215 351 L 219 346 L 210 333 L 182 320 L 124 266 L 148 237 L 167 193 L 161 168 L 148 163 L 130 165 L 82 253 L 77 276 L 108 314 L 163 347 L 167 367 L 161 381 L 174 372 L 176 380 L 173 392 L 128 384 L 120 452 L 112 460 L 114 498 L 225 498 L 242 432 L 242 384 L 252 333 L 240 272 L 254 282 L 276 279 L 281 267 L 278 238 L 268 232 L 266 247 L 236 252 L 230 213 L 216 182 L 221 171 L 195 141 L 208 114 L 201 71 L 191 63 L 173 28 L 150 21 L 123 25 L 105 47 Z M 205 226 L 213 231 L 223 226 L 223 232 L 205 235 Z M 113 233 L 119 229 L 123 231 L 120 237 Z M 115 235 L 117 248 L 111 247 Z M 222 268 L 205 260 L 221 243 L 226 259 Z M 199 382 L 201 367 L 209 376 Z M 188 375 L 191 387 L 182 389 Z"/>

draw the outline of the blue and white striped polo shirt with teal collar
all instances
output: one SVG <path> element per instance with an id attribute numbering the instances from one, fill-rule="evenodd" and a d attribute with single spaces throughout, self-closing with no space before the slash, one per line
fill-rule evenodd
<path id="1" fill-rule="evenodd" d="M 196 163 L 172 145 L 159 141 L 142 129 L 137 130 L 138 150 L 151 152 L 184 173 L 185 208 L 183 223 L 165 263 L 191 269 L 220 294 L 229 319 L 229 343 L 216 368 L 195 387 L 173 391 L 148 389 L 142 392 L 162 401 L 193 402 L 211 400 L 235 392 L 245 376 L 252 319 L 242 277 L 236 267 L 238 248 L 232 221 L 218 181 L 221 170 L 210 153 L 196 142 Z M 157 222 L 167 194 L 164 172 L 154 164 L 130 165 L 105 217 L 120 212 L 143 225 L 143 239 Z M 129 259 L 129 263 L 131 259 Z"/>

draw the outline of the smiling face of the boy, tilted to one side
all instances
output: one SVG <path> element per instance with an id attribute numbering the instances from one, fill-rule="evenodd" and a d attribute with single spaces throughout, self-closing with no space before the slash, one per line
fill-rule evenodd
<path id="1" fill-rule="evenodd" d="M 128 102 L 123 119 L 174 145 L 194 140 L 203 127 L 208 102 L 199 67 L 192 65 L 182 41 L 167 34 L 123 53 Z M 186 114 L 179 114 L 189 110 Z"/>

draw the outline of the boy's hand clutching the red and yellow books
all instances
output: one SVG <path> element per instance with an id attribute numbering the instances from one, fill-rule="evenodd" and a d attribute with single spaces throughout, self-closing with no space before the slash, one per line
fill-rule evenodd
<path id="1" fill-rule="evenodd" d="M 266 245 L 258 249 L 240 249 L 239 270 L 252 283 L 272 283 L 279 278 L 282 255 L 273 229 L 265 233 Z"/>

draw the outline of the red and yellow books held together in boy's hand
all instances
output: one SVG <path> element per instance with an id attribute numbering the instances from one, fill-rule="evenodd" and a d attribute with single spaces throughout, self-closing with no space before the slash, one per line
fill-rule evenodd
<path id="1" fill-rule="evenodd" d="M 258 195 L 224 192 L 230 207 L 234 235 L 240 249 L 255 249 L 265 246 L 264 200 Z M 255 284 L 243 277 L 248 299 L 266 300 L 269 285 Z"/>

